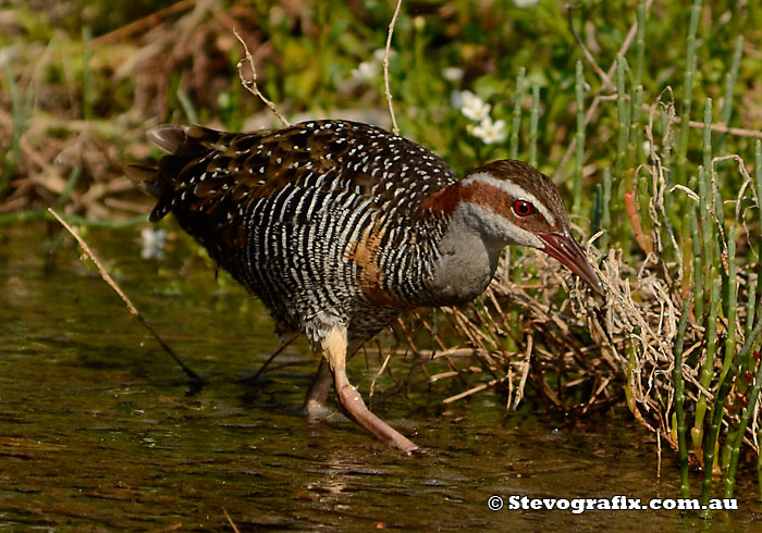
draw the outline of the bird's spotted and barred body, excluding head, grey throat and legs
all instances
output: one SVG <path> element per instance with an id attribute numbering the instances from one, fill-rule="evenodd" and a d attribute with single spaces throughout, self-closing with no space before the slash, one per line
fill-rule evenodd
<path id="1" fill-rule="evenodd" d="M 143 169 L 142 188 L 159 199 L 151 221 L 171 211 L 282 332 L 317 343 L 341 322 L 366 339 L 437 301 L 428 281 L 452 209 L 432 198 L 457 178 L 419 145 L 344 121 L 149 137 L 169 152 L 158 172 Z"/>

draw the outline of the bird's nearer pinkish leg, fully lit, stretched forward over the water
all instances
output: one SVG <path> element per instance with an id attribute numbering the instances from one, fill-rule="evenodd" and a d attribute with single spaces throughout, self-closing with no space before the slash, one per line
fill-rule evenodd
<path id="1" fill-rule="evenodd" d="M 333 326 L 322 342 L 323 355 L 333 374 L 339 409 L 379 441 L 405 454 L 417 450 L 418 446 L 370 412 L 365 406 L 362 397 L 346 377 L 346 327 L 344 326 Z"/>

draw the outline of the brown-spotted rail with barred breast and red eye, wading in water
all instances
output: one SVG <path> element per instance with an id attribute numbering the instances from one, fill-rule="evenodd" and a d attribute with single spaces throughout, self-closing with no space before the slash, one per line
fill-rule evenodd
<path id="1" fill-rule="evenodd" d="M 499 160 L 462 179 L 422 146 L 381 127 L 314 120 L 229 133 L 160 125 L 167 153 L 130 177 L 218 265 L 270 310 L 281 338 L 321 355 L 308 416 L 335 404 L 379 441 L 418 446 L 373 414 L 346 361 L 401 312 L 480 295 L 508 245 L 557 259 L 594 293 L 600 277 L 572 236 L 558 189 L 533 166 Z"/>

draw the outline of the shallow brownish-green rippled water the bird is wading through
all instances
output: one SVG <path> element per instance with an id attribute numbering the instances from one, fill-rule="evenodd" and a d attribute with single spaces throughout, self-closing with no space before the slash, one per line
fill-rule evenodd
<path id="1" fill-rule="evenodd" d="M 491 511 L 492 495 L 506 505 L 672 498 L 675 457 L 664 451 L 660 481 L 652 436 L 627 413 L 558 425 L 539 409 L 506 414 L 490 392 L 444 409 L 445 392 L 422 380 L 373 406 L 426 448 L 420 457 L 339 416 L 309 423 L 299 406 L 316 359 L 303 343 L 256 384 L 242 381 L 278 346 L 256 300 L 216 283 L 182 237 L 170 234 L 159 261 L 140 258 L 138 230 L 90 232 L 138 309 L 208 380 L 194 393 L 69 237 L 48 230 L 0 231 L 2 531 L 233 531 L 225 512 L 239 531 L 761 528 L 750 478 L 739 480 L 740 510 L 713 522 L 677 511 Z M 380 365 L 349 364 L 366 395 Z M 409 365 L 393 360 L 397 375 Z"/>

